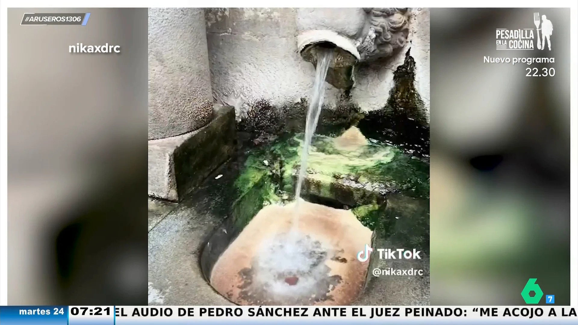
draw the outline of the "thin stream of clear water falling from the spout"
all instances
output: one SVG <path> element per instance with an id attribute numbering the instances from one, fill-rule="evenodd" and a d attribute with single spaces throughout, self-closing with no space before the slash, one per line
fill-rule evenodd
<path id="1" fill-rule="evenodd" d="M 295 215 L 293 217 L 293 229 L 297 229 L 297 221 L 299 216 L 299 198 L 301 197 L 301 187 L 303 185 L 303 178 L 307 170 L 307 157 L 309 156 L 309 146 L 313 133 L 317 128 L 317 121 L 321 113 L 321 106 L 325 95 L 325 77 L 327 77 L 327 70 L 329 63 L 333 59 L 333 49 L 319 48 L 317 51 L 317 68 L 315 72 L 315 81 L 313 83 L 313 91 L 309 101 L 309 109 L 307 110 L 307 120 L 305 122 L 305 142 L 303 144 L 303 152 L 301 152 L 301 166 L 299 167 L 299 178 L 297 180 L 297 189 L 295 190 Z"/>

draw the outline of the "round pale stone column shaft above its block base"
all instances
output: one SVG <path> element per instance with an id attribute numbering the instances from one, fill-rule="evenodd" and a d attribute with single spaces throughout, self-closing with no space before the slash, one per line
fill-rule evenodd
<path id="1" fill-rule="evenodd" d="M 149 9 L 149 140 L 197 130 L 213 115 L 202 8 Z"/>

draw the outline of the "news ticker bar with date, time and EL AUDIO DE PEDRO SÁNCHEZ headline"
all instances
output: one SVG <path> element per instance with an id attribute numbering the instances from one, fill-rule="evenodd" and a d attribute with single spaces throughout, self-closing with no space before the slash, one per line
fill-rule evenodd
<path id="1" fill-rule="evenodd" d="M 562 306 L 0 306 L 0 323 L 51 325 L 217 323 L 577 322 Z"/>

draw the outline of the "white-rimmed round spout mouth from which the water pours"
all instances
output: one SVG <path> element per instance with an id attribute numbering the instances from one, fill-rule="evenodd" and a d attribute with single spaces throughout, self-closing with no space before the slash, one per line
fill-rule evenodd
<path id="1" fill-rule="evenodd" d="M 297 36 L 297 47 L 303 60 L 315 66 L 319 51 L 334 49 L 334 56 L 327 71 L 327 82 L 344 90 L 350 90 L 354 86 L 354 67 L 360 60 L 360 54 L 350 39 L 334 31 L 312 30 Z"/>

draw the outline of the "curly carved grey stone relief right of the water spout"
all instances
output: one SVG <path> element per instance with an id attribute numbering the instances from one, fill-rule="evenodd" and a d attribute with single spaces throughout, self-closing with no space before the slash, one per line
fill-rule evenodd
<path id="1" fill-rule="evenodd" d="M 357 40 L 361 62 L 390 57 L 409 35 L 409 8 L 364 8 L 366 24 Z"/>

